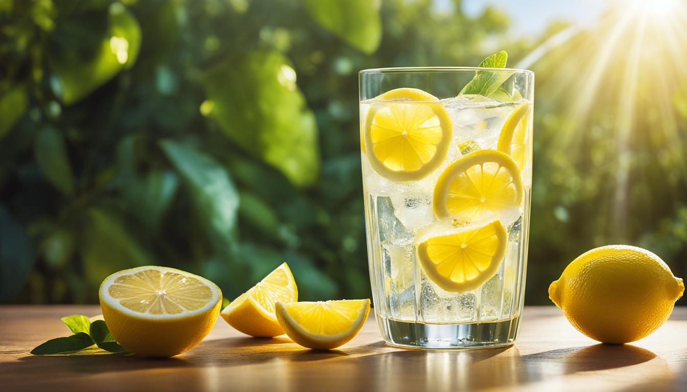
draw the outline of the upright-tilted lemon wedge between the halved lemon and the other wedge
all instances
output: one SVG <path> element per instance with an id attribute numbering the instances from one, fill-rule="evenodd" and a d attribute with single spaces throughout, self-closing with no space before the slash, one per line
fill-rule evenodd
<path id="1" fill-rule="evenodd" d="M 222 317 L 240 332 L 271 338 L 284 334 L 274 314 L 277 301 L 298 300 L 298 288 L 286 263 L 278 266 L 222 310 Z"/>

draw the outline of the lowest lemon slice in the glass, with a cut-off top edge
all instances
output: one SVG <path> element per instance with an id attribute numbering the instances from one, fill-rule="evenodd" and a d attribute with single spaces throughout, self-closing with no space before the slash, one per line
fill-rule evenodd
<path id="1" fill-rule="evenodd" d="M 484 227 L 429 238 L 418 245 L 425 274 L 440 288 L 465 292 L 482 286 L 499 269 L 508 235 L 498 220 Z"/>

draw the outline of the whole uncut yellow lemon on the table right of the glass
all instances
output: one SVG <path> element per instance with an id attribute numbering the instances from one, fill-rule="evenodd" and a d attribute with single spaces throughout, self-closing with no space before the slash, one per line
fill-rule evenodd
<path id="1" fill-rule="evenodd" d="M 568 321 L 602 343 L 648 336 L 668 319 L 682 292 L 682 279 L 660 257 L 627 245 L 583 253 L 549 286 L 549 298 Z"/>

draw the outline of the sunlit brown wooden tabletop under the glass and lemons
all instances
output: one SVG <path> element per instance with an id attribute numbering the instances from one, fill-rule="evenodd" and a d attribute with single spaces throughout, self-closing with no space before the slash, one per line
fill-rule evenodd
<path id="1" fill-rule="evenodd" d="M 499 349 L 419 351 L 387 347 L 370 319 L 335 351 L 286 337 L 249 338 L 218 320 L 181 356 L 32 356 L 66 336 L 60 316 L 97 306 L 1 306 L 0 391 L 687 391 L 687 308 L 633 345 L 600 345 L 553 307 L 526 308 L 520 338 Z"/>

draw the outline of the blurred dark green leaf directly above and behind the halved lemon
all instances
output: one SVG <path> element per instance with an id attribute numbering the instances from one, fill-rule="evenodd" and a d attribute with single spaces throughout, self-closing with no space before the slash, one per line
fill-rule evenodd
<path id="1" fill-rule="evenodd" d="M 115 211 L 92 207 L 87 218 L 82 259 L 91 288 L 97 289 L 112 271 L 155 265 L 155 258 L 133 238 Z"/>

